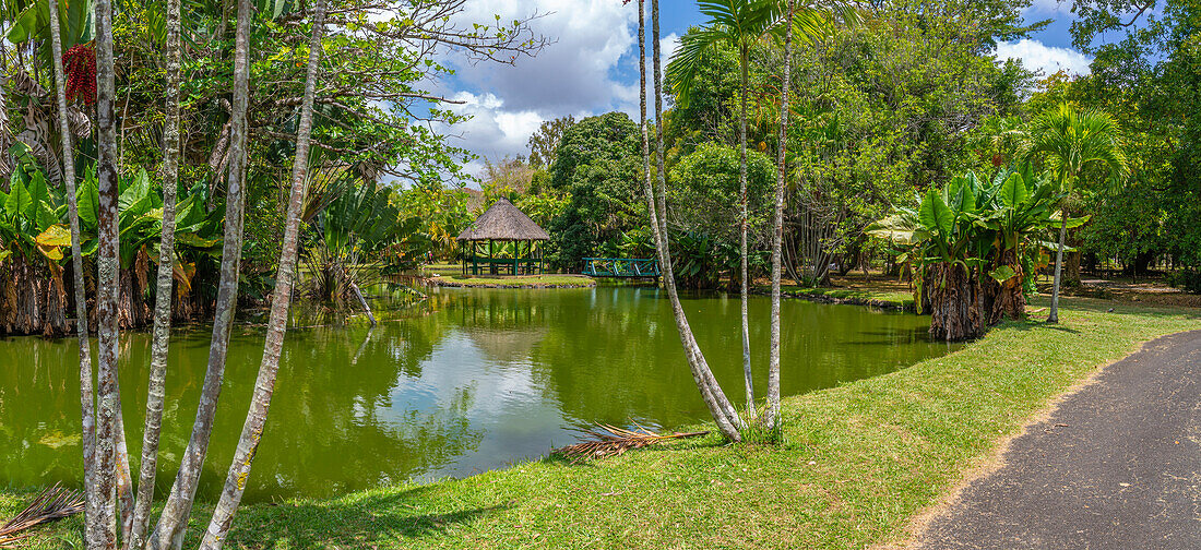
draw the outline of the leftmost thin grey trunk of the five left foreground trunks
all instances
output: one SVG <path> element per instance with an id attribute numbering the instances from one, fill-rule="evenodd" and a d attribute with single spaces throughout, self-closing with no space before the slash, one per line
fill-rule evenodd
<path id="1" fill-rule="evenodd" d="M 83 414 L 80 447 L 83 447 L 84 540 L 89 549 L 98 548 L 103 537 L 100 530 L 98 500 L 95 491 L 96 472 L 96 412 L 91 387 L 91 346 L 88 343 L 88 291 L 84 288 L 83 253 L 79 249 L 79 205 L 76 197 L 74 145 L 67 120 L 66 76 L 62 71 L 62 38 L 56 1 L 49 1 L 52 22 L 50 53 L 54 61 L 54 98 L 59 108 L 59 132 L 62 137 L 62 179 L 66 181 L 67 219 L 71 226 L 71 275 L 76 299 L 76 335 L 79 337 L 79 408 Z M 0 104 L 2 108 L 2 104 Z"/>

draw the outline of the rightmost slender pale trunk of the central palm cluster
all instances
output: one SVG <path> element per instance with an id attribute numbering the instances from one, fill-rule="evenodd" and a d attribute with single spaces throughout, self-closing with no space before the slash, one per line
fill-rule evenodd
<path id="1" fill-rule="evenodd" d="M 784 16 L 784 83 L 779 97 L 779 150 L 776 165 L 776 211 L 771 233 L 771 349 L 767 355 L 767 425 L 779 426 L 779 271 L 784 241 L 784 185 L 787 180 L 785 153 L 788 149 L 788 91 L 793 71 L 793 8 L 788 0 Z"/>

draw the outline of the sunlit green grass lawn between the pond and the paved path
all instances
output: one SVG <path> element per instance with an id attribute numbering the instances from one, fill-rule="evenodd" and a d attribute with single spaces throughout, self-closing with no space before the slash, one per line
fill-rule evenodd
<path id="1" fill-rule="evenodd" d="M 239 513 L 227 548 L 859 549 L 897 542 L 909 518 L 988 461 L 1003 437 L 1054 396 L 1143 341 L 1201 329 L 1197 310 L 1080 298 L 1063 301 L 1062 318 L 1059 325 L 1006 323 L 960 352 L 789 397 L 781 447 L 727 446 L 710 436 L 596 464 L 543 460 L 335 500 L 256 504 Z M 17 507 L 12 491 L 0 491 L 0 518 Z M 208 508 L 201 508 L 195 515 L 203 525 L 193 524 L 189 544 L 207 525 Z M 78 518 L 46 528 L 34 548 L 78 548 L 79 528 Z"/>

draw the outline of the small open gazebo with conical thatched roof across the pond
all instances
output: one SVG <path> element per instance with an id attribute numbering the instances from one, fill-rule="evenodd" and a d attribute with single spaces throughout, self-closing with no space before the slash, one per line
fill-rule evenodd
<path id="1" fill-rule="evenodd" d="M 501 198 L 456 240 L 466 249 L 462 255 L 465 274 L 528 275 L 543 271 L 542 247 L 536 243 L 550 240 L 550 235 L 507 198 Z"/>

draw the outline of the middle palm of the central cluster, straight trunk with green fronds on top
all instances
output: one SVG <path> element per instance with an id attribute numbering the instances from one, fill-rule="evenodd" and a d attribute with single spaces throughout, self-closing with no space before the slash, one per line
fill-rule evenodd
<path id="1" fill-rule="evenodd" d="M 740 275 L 742 307 L 742 373 L 746 383 L 747 411 L 754 409 L 754 383 L 751 379 L 751 325 L 747 317 L 747 68 L 751 47 L 779 23 L 779 2 L 776 0 L 699 0 L 700 12 L 709 16 L 704 29 L 688 32 L 680 40 L 680 48 L 668 64 L 668 84 L 676 101 L 687 106 L 692 84 L 704 64 L 706 50 L 728 44 L 739 52 L 739 205 Z M 657 84 L 657 83 L 656 83 Z"/>

